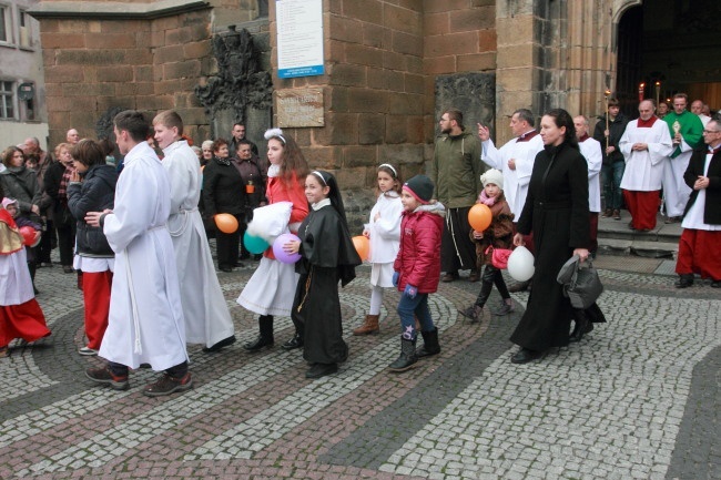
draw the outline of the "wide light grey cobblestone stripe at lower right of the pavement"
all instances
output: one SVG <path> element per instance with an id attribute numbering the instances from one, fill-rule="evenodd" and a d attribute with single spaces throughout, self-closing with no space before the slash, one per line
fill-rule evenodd
<path id="1" fill-rule="evenodd" d="M 721 343 L 719 304 L 703 303 L 700 317 L 679 323 L 698 302 L 668 306 L 667 317 L 658 315 L 658 298 L 634 302 L 646 314 L 633 320 L 611 314 L 582 348 L 521 368 L 499 358 L 379 469 L 443 479 L 549 471 L 664 478 L 692 366 Z"/>

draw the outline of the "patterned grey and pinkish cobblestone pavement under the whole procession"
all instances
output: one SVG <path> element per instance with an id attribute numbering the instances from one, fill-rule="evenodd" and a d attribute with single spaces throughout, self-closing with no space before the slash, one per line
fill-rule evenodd
<path id="1" fill-rule="evenodd" d="M 386 370 L 399 350 L 397 293 L 380 335 L 349 335 L 369 297 L 362 267 L 341 294 L 351 357 L 312 381 L 301 353 L 280 348 L 290 318 L 276 321 L 275 348 L 243 350 L 257 328 L 235 304 L 250 263 L 219 274 L 238 343 L 190 346 L 194 388 L 164 398 L 141 394 L 150 370 L 122 392 L 84 378 L 99 360 L 77 354 L 74 276 L 42 268 L 53 335 L 0 359 L 0 479 L 721 479 L 721 292 L 607 264 L 596 263 L 609 323 L 522 366 L 509 362 L 508 337 L 528 294 L 510 316 L 486 310 L 470 325 L 457 308 L 479 284 L 441 284 L 430 307 L 443 351 L 404 374 Z"/>

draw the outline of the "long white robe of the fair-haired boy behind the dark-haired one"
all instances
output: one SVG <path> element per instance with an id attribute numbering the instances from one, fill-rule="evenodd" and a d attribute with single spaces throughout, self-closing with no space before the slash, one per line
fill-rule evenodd
<path id="1" fill-rule="evenodd" d="M 175 248 L 185 338 L 189 344 L 212 347 L 233 336 L 235 328 L 215 274 L 203 219 L 197 211 L 202 185 L 201 164 L 184 140 L 167 145 L 163 153 L 165 156 L 162 163 L 171 185 L 167 227 Z"/>

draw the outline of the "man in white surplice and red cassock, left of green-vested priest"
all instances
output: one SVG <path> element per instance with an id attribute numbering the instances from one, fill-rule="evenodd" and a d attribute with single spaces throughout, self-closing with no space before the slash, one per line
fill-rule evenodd
<path id="1" fill-rule="evenodd" d="M 629 226 L 641 232 L 656 227 L 663 162 L 673 151 L 669 129 L 654 110 L 651 100 L 643 100 L 639 104 L 641 116 L 626 125 L 618 142 L 626 159 L 621 190 L 631 214 Z"/>

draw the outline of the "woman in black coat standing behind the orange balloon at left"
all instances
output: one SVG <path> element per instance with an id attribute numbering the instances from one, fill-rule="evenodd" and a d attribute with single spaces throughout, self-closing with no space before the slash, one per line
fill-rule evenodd
<path id="1" fill-rule="evenodd" d="M 203 206 L 205 215 L 213 217 L 219 213 L 233 215 L 238 225 L 245 215 L 245 184 L 233 160 L 229 155 L 227 141 L 217 139 L 213 142 L 213 160 L 203 170 Z M 241 245 L 240 228 L 233 233 L 215 231 L 217 267 L 232 272 L 238 266 L 237 257 Z"/>

